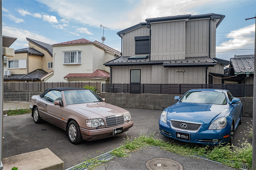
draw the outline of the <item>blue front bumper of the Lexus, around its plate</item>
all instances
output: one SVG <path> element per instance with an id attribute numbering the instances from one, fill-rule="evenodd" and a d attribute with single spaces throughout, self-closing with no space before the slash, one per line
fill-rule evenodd
<path id="1" fill-rule="evenodd" d="M 190 143 L 200 143 L 203 145 L 218 145 L 219 143 L 229 142 L 229 138 L 224 136 L 230 135 L 231 126 L 226 125 L 223 129 L 209 130 L 209 125 L 201 125 L 197 132 L 186 132 L 172 128 L 170 120 L 167 120 L 167 123 L 159 120 L 159 130 L 160 133 L 166 137 L 170 137 L 176 140 L 190 142 Z M 162 132 L 164 130 L 164 132 Z M 190 140 L 178 139 L 176 138 L 176 132 L 183 132 L 190 134 Z M 218 139 L 218 142 L 212 142 L 212 139 Z"/>

